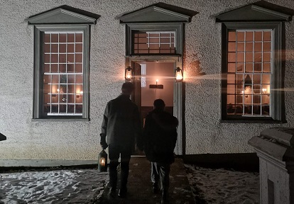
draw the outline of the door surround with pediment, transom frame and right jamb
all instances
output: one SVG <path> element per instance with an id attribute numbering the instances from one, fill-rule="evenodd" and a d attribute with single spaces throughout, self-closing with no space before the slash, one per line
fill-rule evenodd
<path id="1" fill-rule="evenodd" d="M 170 4 L 157 3 L 119 16 L 119 23 L 125 24 L 125 65 L 133 62 L 174 62 L 175 68 L 183 69 L 183 45 L 185 39 L 185 23 L 190 23 L 197 12 Z M 176 50 L 174 55 L 142 55 L 133 53 L 132 36 L 136 31 L 175 31 Z M 175 154 L 185 154 L 185 81 L 174 82 L 173 115 L 178 118 L 178 139 Z"/>

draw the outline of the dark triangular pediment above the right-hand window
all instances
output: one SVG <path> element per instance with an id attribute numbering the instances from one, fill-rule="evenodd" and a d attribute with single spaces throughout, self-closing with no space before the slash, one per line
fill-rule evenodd
<path id="1" fill-rule="evenodd" d="M 291 15 L 264 8 L 255 4 L 236 8 L 216 16 L 217 22 L 236 22 L 236 21 L 290 21 Z"/>

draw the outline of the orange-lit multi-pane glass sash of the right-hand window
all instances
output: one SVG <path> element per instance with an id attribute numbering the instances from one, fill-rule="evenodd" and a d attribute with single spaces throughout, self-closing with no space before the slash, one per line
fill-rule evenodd
<path id="1" fill-rule="evenodd" d="M 227 115 L 271 116 L 273 30 L 229 30 Z"/>

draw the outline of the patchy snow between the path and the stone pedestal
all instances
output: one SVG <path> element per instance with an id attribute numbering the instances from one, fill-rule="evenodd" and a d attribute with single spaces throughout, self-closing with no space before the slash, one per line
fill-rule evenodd
<path id="1" fill-rule="evenodd" d="M 187 178 L 197 204 L 259 203 L 257 172 L 207 169 L 185 164 Z"/>

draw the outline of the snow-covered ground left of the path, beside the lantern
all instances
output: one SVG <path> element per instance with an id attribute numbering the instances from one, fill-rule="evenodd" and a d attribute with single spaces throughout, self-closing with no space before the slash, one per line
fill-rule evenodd
<path id="1" fill-rule="evenodd" d="M 96 169 L 0 174 L 0 203 L 92 203 L 107 180 Z"/>

